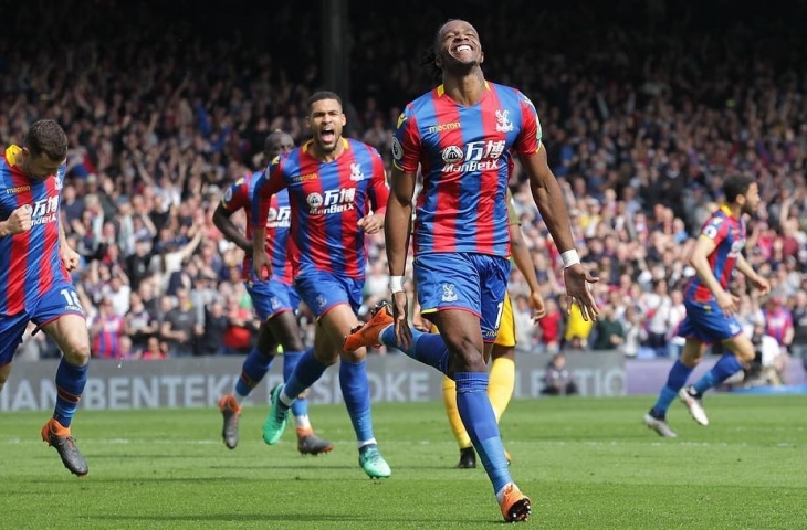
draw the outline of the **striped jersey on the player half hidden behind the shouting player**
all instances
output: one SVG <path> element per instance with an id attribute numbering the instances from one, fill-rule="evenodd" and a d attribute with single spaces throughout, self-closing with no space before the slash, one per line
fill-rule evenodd
<path id="1" fill-rule="evenodd" d="M 237 180 L 224 191 L 221 205 L 228 212 L 235 213 L 239 210 L 247 214 L 247 239 L 252 239 L 252 197 L 254 184 L 263 171 L 256 171 Z M 266 214 L 266 253 L 272 263 L 272 278 L 285 285 L 292 285 L 294 276 L 290 258 L 294 253 L 294 244 L 289 240 L 289 227 L 291 226 L 291 209 L 289 208 L 289 193 L 281 190 L 272 195 Z M 252 258 L 244 257 L 243 278 L 251 282 L 259 282 L 252 268 Z"/>

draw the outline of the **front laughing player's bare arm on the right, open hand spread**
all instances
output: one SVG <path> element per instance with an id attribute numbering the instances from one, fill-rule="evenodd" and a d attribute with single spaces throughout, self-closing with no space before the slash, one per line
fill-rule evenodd
<path id="1" fill-rule="evenodd" d="M 544 146 L 538 146 L 538 150 L 534 155 L 520 156 L 520 160 L 524 170 L 530 176 L 530 188 L 533 192 L 535 204 L 541 211 L 541 216 L 549 230 L 557 250 L 563 254 L 574 251 L 575 244 L 572 236 L 572 227 L 569 226 L 568 211 L 564 201 L 563 190 L 557 183 L 557 179 L 546 162 L 546 150 Z M 576 252 L 574 253 L 576 256 Z M 580 307 L 583 318 L 594 320 L 599 314 L 597 303 L 591 295 L 588 284 L 599 282 L 599 278 L 589 274 L 588 269 L 579 263 L 573 263 L 568 266 L 564 265 L 564 280 L 566 284 L 566 294 L 570 300 L 566 310 L 572 309 L 572 303 L 577 303 Z"/>

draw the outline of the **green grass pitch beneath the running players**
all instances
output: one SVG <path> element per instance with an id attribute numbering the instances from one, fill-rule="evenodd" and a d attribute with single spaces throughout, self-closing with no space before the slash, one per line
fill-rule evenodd
<path id="1" fill-rule="evenodd" d="M 710 427 L 680 405 L 675 439 L 641 425 L 651 398 L 515 401 L 502 424 L 512 473 L 533 499 L 527 528 L 805 529 L 807 398 L 710 395 Z M 484 471 L 452 466 L 440 403 L 377 404 L 392 477 L 357 464 L 343 406 L 312 407 L 336 449 L 269 447 L 265 407 L 245 407 L 228 451 L 217 410 L 80 411 L 90 463 L 77 479 L 40 441 L 46 414 L 0 417 L 0 528 L 502 528 Z"/>

